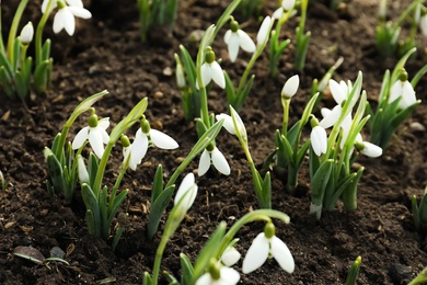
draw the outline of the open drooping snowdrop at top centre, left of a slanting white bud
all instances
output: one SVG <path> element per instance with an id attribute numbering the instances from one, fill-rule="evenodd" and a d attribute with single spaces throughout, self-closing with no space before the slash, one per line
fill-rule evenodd
<path id="1" fill-rule="evenodd" d="M 223 41 L 229 48 L 231 62 L 234 62 L 238 58 L 239 47 L 247 53 L 254 53 L 256 49 L 252 38 L 239 29 L 239 23 L 233 18 L 231 18 L 230 30 L 226 32 Z"/>

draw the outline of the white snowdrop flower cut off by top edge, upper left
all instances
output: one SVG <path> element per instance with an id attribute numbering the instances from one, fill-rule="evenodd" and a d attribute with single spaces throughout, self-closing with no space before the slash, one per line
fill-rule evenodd
<path id="1" fill-rule="evenodd" d="M 46 12 L 46 8 L 49 0 L 44 0 L 42 3 L 42 12 Z M 68 4 L 68 5 L 67 5 Z M 55 1 L 53 2 L 53 8 L 59 8 L 58 12 L 54 18 L 54 33 L 58 34 L 64 29 L 67 33 L 72 36 L 76 30 L 76 20 L 74 16 L 81 19 L 92 18 L 92 13 L 83 8 L 83 2 L 81 0 L 66 0 L 66 1 Z"/>

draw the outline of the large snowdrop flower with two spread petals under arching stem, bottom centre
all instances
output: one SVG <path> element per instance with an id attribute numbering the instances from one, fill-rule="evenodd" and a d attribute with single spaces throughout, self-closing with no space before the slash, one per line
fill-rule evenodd
<path id="1" fill-rule="evenodd" d="M 252 242 L 243 260 L 242 271 L 251 273 L 267 260 L 268 256 L 275 258 L 280 267 L 288 273 L 295 270 L 293 256 L 288 247 L 275 236 L 276 228 L 272 221 L 267 223 L 264 232 L 261 232 Z"/>

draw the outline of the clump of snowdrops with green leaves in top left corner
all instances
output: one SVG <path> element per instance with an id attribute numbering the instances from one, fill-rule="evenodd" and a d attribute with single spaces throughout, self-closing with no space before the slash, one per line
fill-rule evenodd
<path id="1" fill-rule="evenodd" d="M 43 43 L 43 31 L 49 15 L 56 12 L 54 32 L 59 33 L 66 30 L 70 36 L 76 30 L 74 16 L 81 19 L 92 16 L 91 12 L 84 9 L 81 0 L 44 0 L 41 7 L 43 15 L 35 32 L 35 60 L 33 62 L 33 58 L 27 55 L 28 46 L 34 37 L 33 23 L 26 23 L 16 36 L 28 0 L 20 2 L 8 33 L 8 41 L 3 42 L 0 36 L 0 87 L 9 98 L 18 96 L 21 100 L 24 100 L 31 90 L 41 93 L 50 86 L 50 73 L 54 67 L 54 59 L 50 57 L 50 39 L 47 38 Z M 0 32 L 2 32 L 1 23 Z"/>

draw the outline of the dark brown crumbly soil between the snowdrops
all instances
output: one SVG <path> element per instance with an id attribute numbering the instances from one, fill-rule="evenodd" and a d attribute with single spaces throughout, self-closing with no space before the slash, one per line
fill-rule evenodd
<path id="1" fill-rule="evenodd" d="M 37 19 L 41 1 L 31 2 L 25 16 Z M 216 23 L 229 2 L 181 1 L 172 35 L 154 30 L 147 44 L 140 42 L 138 13 L 135 1 L 130 0 L 92 1 L 88 8 L 93 19 L 79 22 L 73 37 L 65 32 L 54 35 L 51 21 L 48 23 L 46 33 L 55 43 L 51 89 L 46 94 L 32 94 L 27 110 L 21 102 L 0 94 L 0 170 L 9 182 L 0 195 L 1 284 L 140 284 L 143 272 L 151 272 L 165 220 L 162 219 L 155 238 L 148 240 L 147 213 L 155 168 L 162 163 L 169 178 L 197 139 L 194 123 L 184 119 L 173 55 L 183 44 L 195 56 L 197 45 L 192 44 L 189 34 Z M 389 14 L 396 19 L 409 1 L 392 2 Z M 277 1 L 265 1 L 261 14 L 270 14 L 276 4 Z M 12 16 L 11 7 L 2 5 L 3 30 Z M 376 104 L 382 76 L 396 62 L 396 59 L 383 59 L 376 52 L 377 8 L 378 1 L 363 0 L 348 1 L 338 11 L 331 11 L 324 3 L 311 1 L 307 30 L 311 31 L 312 38 L 305 69 L 300 73 L 300 90 L 292 99 L 291 122 L 301 115 L 312 80 L 320 79 L 339 57 L 344 57 L 344 62 L 334 78 L 355 80 L 357 72 L 362 71 L 363 89 Z M 259 26 L 256 18 L 236 15 L 236 19 L 254 38 Z M 292 18 L 286 24 L 281 38 L 295 38 L 297 20 Z M 405 34 L 408 29 L 403 26 L 402 30 Z M 231 64 L 221 38 L 224 32 L 226 29 L 220 32 L 214 49 L 217 57 L 223 59 L 222 68 L 235 79 L 243 72 L 249 55 L 241 52 L 236 62 Z M 419 38 L 419 44 L 425 47 L 425 38 Z M 293 55 L 291 44 L 280 59 L 277 79 L 268 76 L 267 54 L 261 56 L 253 71 L 256 76 L 253 90 L 240 112 L 247 128 L 251 153 L 259 168 L 274 149 L 275 129 L 281 126 L 280 90 L 285 80 L 297 73 Z M 406 65 L 409 76 L 414 76 L 426 59 L 425 50 L 419 48 L 417 58 Z M 362 259 L 359 284 L 406 284 L 427 265 L 427 240 L 415 230 L 411 214 L 412 195 L 420 197 L 427 183 L 427 136 L 423 128 L 416 127 L 427 126 L 426 87 L 424 78 L 416 89 L 423 103 L 399 128 L 399 136 L 392 138 L 383 156 L 358 160 L 366 170 L 358 185 L 356 212 L 346 213 L 338 205 L 336 210 L 323 213 L 316 220 L 309 214 L 307 166 L 301 169 L 293 196 L 285 191 L 286 180 L 273 174 L 273 208 L 287 213 L 291 220 L 289 225 L 277 221 L 276 233 L 292 252 L 296 271 L 288 274 L 269 260 L 256 272 L 242 274 L 242 284 L 343 284 L 359 255 Z M 154 128 L 168 133 L 180 144 L 173 151 L 150 149 L 145 163 L 137 171 L 126 173 L 122 189 L 130 192 L 120 213 L 128 214 L 128 218 L 116 252 L 111 250 L 111 240 L 88 235 L 84 204 L 79 193 L 72 202 L 48 195 L 43 157 L 44 147 L 51 145 L 77 104 L 104 89 L 109 94 L 95 104 L 100 116 L 109 116 L 117 123 L 147 96 L 147 118 Z M 209 94 L 209 111 L 227 112 L 224 91 L 214 88 Z M 76 122 L 69 139 L 85 124 L 86 114 Z M 134 129 L 129 135 L 132 133 Z M 162 270 L 175 276 L 180 276 L 181 252 L 194 261 L 221 220 L 230 226 L 257 208 L 251 172 L 238 139 L 221 132 L 217 145 L 232 171 L 230 176 L 223 176 L 210 170 L 197 178 L 196 203 L 168 244 L 162 262 Z M 119 146 L 114 150 L 116 158 L 108 164 L 108 173 L 118 170 L 120 151 Z M 197 161 L 194 161 L 187 171 L 196 169 Z M 236 247 L 243 255 L 263 226 L 263 223 L 253 223 L 239 231 Z M 66 260 L 70 265 L 50 263 L 50 270 L 37 265 L 13 255 L 13 250 L 20 246 L 35 248 L 45 256 L 49 256 L 54 247 L 59 247 L 68 252 Z M 235 267 L 240 270 L 241 261 Z M 164 283 L 162 280 L 161 284 Z"/>

